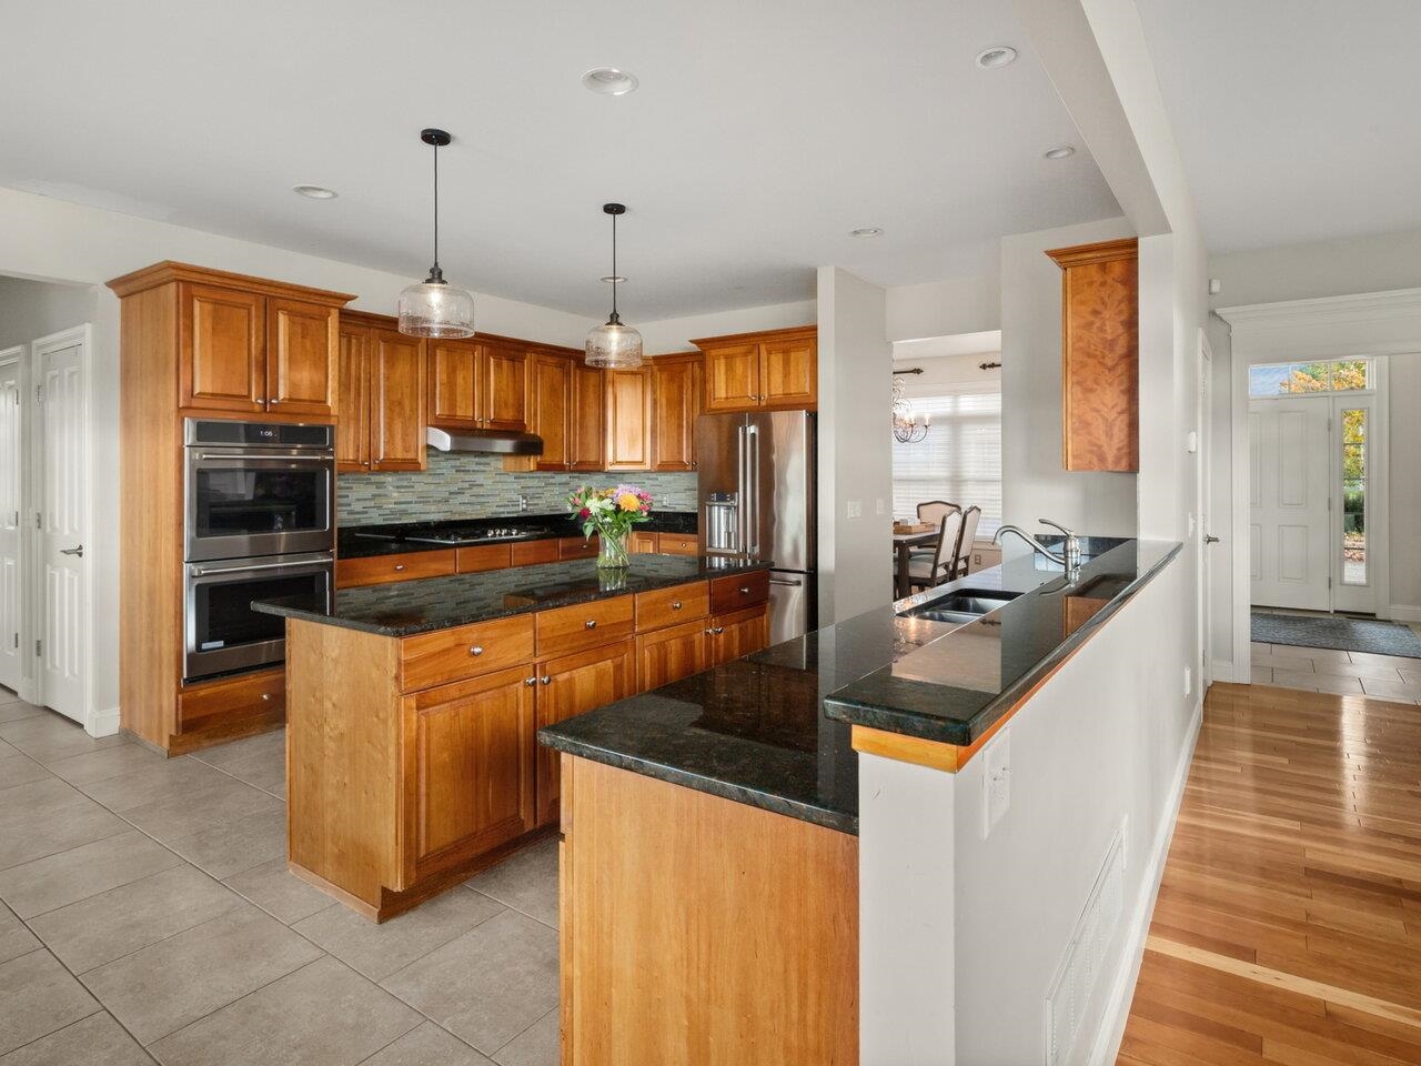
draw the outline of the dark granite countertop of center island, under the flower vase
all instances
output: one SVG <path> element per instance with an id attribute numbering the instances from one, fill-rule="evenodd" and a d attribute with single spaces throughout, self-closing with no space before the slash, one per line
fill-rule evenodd
<path id="1" fill-rule="evenodd" d="M 740 559 L 632 556 L 625 570 L 598 570 L 593 559 L 570 559 L 510 570 L 340 588 L 330 611 L 304 597 L 257 600 L 252 608 L 385 637 L 409 637 L 769 567 L 767 561 Z"/>

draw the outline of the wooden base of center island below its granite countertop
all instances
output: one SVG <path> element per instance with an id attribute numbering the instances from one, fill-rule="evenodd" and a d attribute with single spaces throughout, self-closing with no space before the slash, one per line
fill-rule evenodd
<path id="1" fill-rule="evenodd" d="M 698 641 L 746 613 L 759 635 L 736 652 L 763 647 L 766 603 L 716 617 L 720 581 L 409 637 L 288 618 L 293 873 L 384 921 L 553 831 L 558 763 L 539 726 L 705 668 Z M 686 662 L 642 679 L 647 648 L 688 630 Z"/>

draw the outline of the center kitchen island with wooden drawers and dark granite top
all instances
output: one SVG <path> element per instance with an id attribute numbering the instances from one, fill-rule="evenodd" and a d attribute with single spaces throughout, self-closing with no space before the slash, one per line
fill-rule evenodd
<path id="1" fill-rule="evenodd" d="M 534 732 L 766 641 L 767 564 L 635 556 L 253 607 L 287 620 L 288 863 L 382 921 L 553 831 Z"/>

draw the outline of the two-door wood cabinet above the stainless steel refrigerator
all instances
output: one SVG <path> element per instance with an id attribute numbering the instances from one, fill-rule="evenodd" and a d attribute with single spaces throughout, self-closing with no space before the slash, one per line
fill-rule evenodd
<path id="1" fill-rule="evenodd" d="M 692 341 L 705 352 L 705 409 L 810 409 L 818 404 L 813 325 Z"/>

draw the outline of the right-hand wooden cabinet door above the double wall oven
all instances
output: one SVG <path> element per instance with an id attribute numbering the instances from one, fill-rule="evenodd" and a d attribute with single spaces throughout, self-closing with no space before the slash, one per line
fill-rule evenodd
<path id="1" fill-rule="evenodd" d="M 267 409 L 335 414 L 340 388 L 340 311 L 301 300 L 267 300 Z"/>

